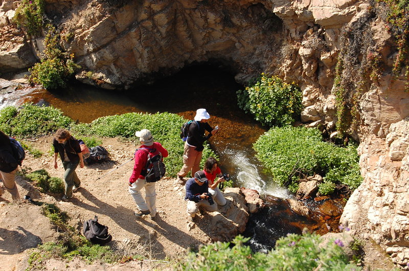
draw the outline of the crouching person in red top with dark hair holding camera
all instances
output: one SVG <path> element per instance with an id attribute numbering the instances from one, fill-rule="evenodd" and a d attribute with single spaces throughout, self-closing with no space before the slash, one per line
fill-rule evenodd
<path id="1" fill-rule="evenodd" d="M 224 198 L 223 193 L 218 188 L 219 184 L 222 184 L 226 180 L 230 180 L 229 174 L 222 174 L 221 169 L 219 168 L 219 162 L 214 157 L 209 157 L 208 160 L 205 162 L 205 171 L 206 178 L 209 180 L 209 193 L 212 194 L 214 201 L 216 201 L 217 205 L 224 206 L 226 204 L 226 199 Z M 216 182 L 214 181 L 218 179 Z"/>

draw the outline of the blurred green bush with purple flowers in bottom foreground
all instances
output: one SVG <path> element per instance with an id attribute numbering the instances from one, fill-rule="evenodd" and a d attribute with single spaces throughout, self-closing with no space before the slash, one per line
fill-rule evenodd
<path id="1" fill-rule="evenodd" d="M 190 252 L 176 270 L 360 270 L 350 264 L 342 247 L 335 242 L 320 246 L 318 235 L 288 234 L 276 243 L 269 254 L 253 253 L 243 245 L 241 236 L 229 242 L 202 246 L 198 253 Z M 320 267 L 319 267 L 320 266 Z"/>

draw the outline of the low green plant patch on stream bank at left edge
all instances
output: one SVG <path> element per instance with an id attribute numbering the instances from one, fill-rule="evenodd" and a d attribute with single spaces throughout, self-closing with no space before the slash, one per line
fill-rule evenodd
<path id="1" fill-rule="evenodd" d="M 73 120 L 65 117 L 60 109 L 51 106 L 36 106 L 31 103 L 25 104 L 17 113 L 9 107 L 0 110 L 0 125 L 9 134 L 19 137 L 29 137 L 49 133 L 58 128 L 69 127 Z M 2 117 L 15 114 L 10 120 Z"/>

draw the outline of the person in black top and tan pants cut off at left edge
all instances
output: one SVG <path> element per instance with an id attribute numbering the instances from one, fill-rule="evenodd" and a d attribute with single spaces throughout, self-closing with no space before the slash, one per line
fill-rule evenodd
<path id="1" fill-rule="evenodd" d="M 10 138 L 4 132 L 0 131 L 0 176 L 3 179 L 4 187 L 10 192 L 13 200 L 20 198 L 14 180 L 17 167 L 18 161 L 13 156 Z"/>

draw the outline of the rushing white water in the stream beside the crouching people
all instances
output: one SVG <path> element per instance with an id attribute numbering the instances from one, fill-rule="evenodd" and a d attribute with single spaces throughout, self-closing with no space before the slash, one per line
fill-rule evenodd
<path id="1" fill-rule="evenodd" d="M 234 178 L 238 185 L 257 190 L 260 194 L 272 195 L 279 198 L 291 197 L 289 191 L 278 186 L 269 176 L 260 173 L 261 168 L 255 157 L 249 157 L 248 152 L 237 150 L 238 148 L 226 148 L 222 151 L 222 156 L 229 156 L 231 164 L 235 167 Z"/>

